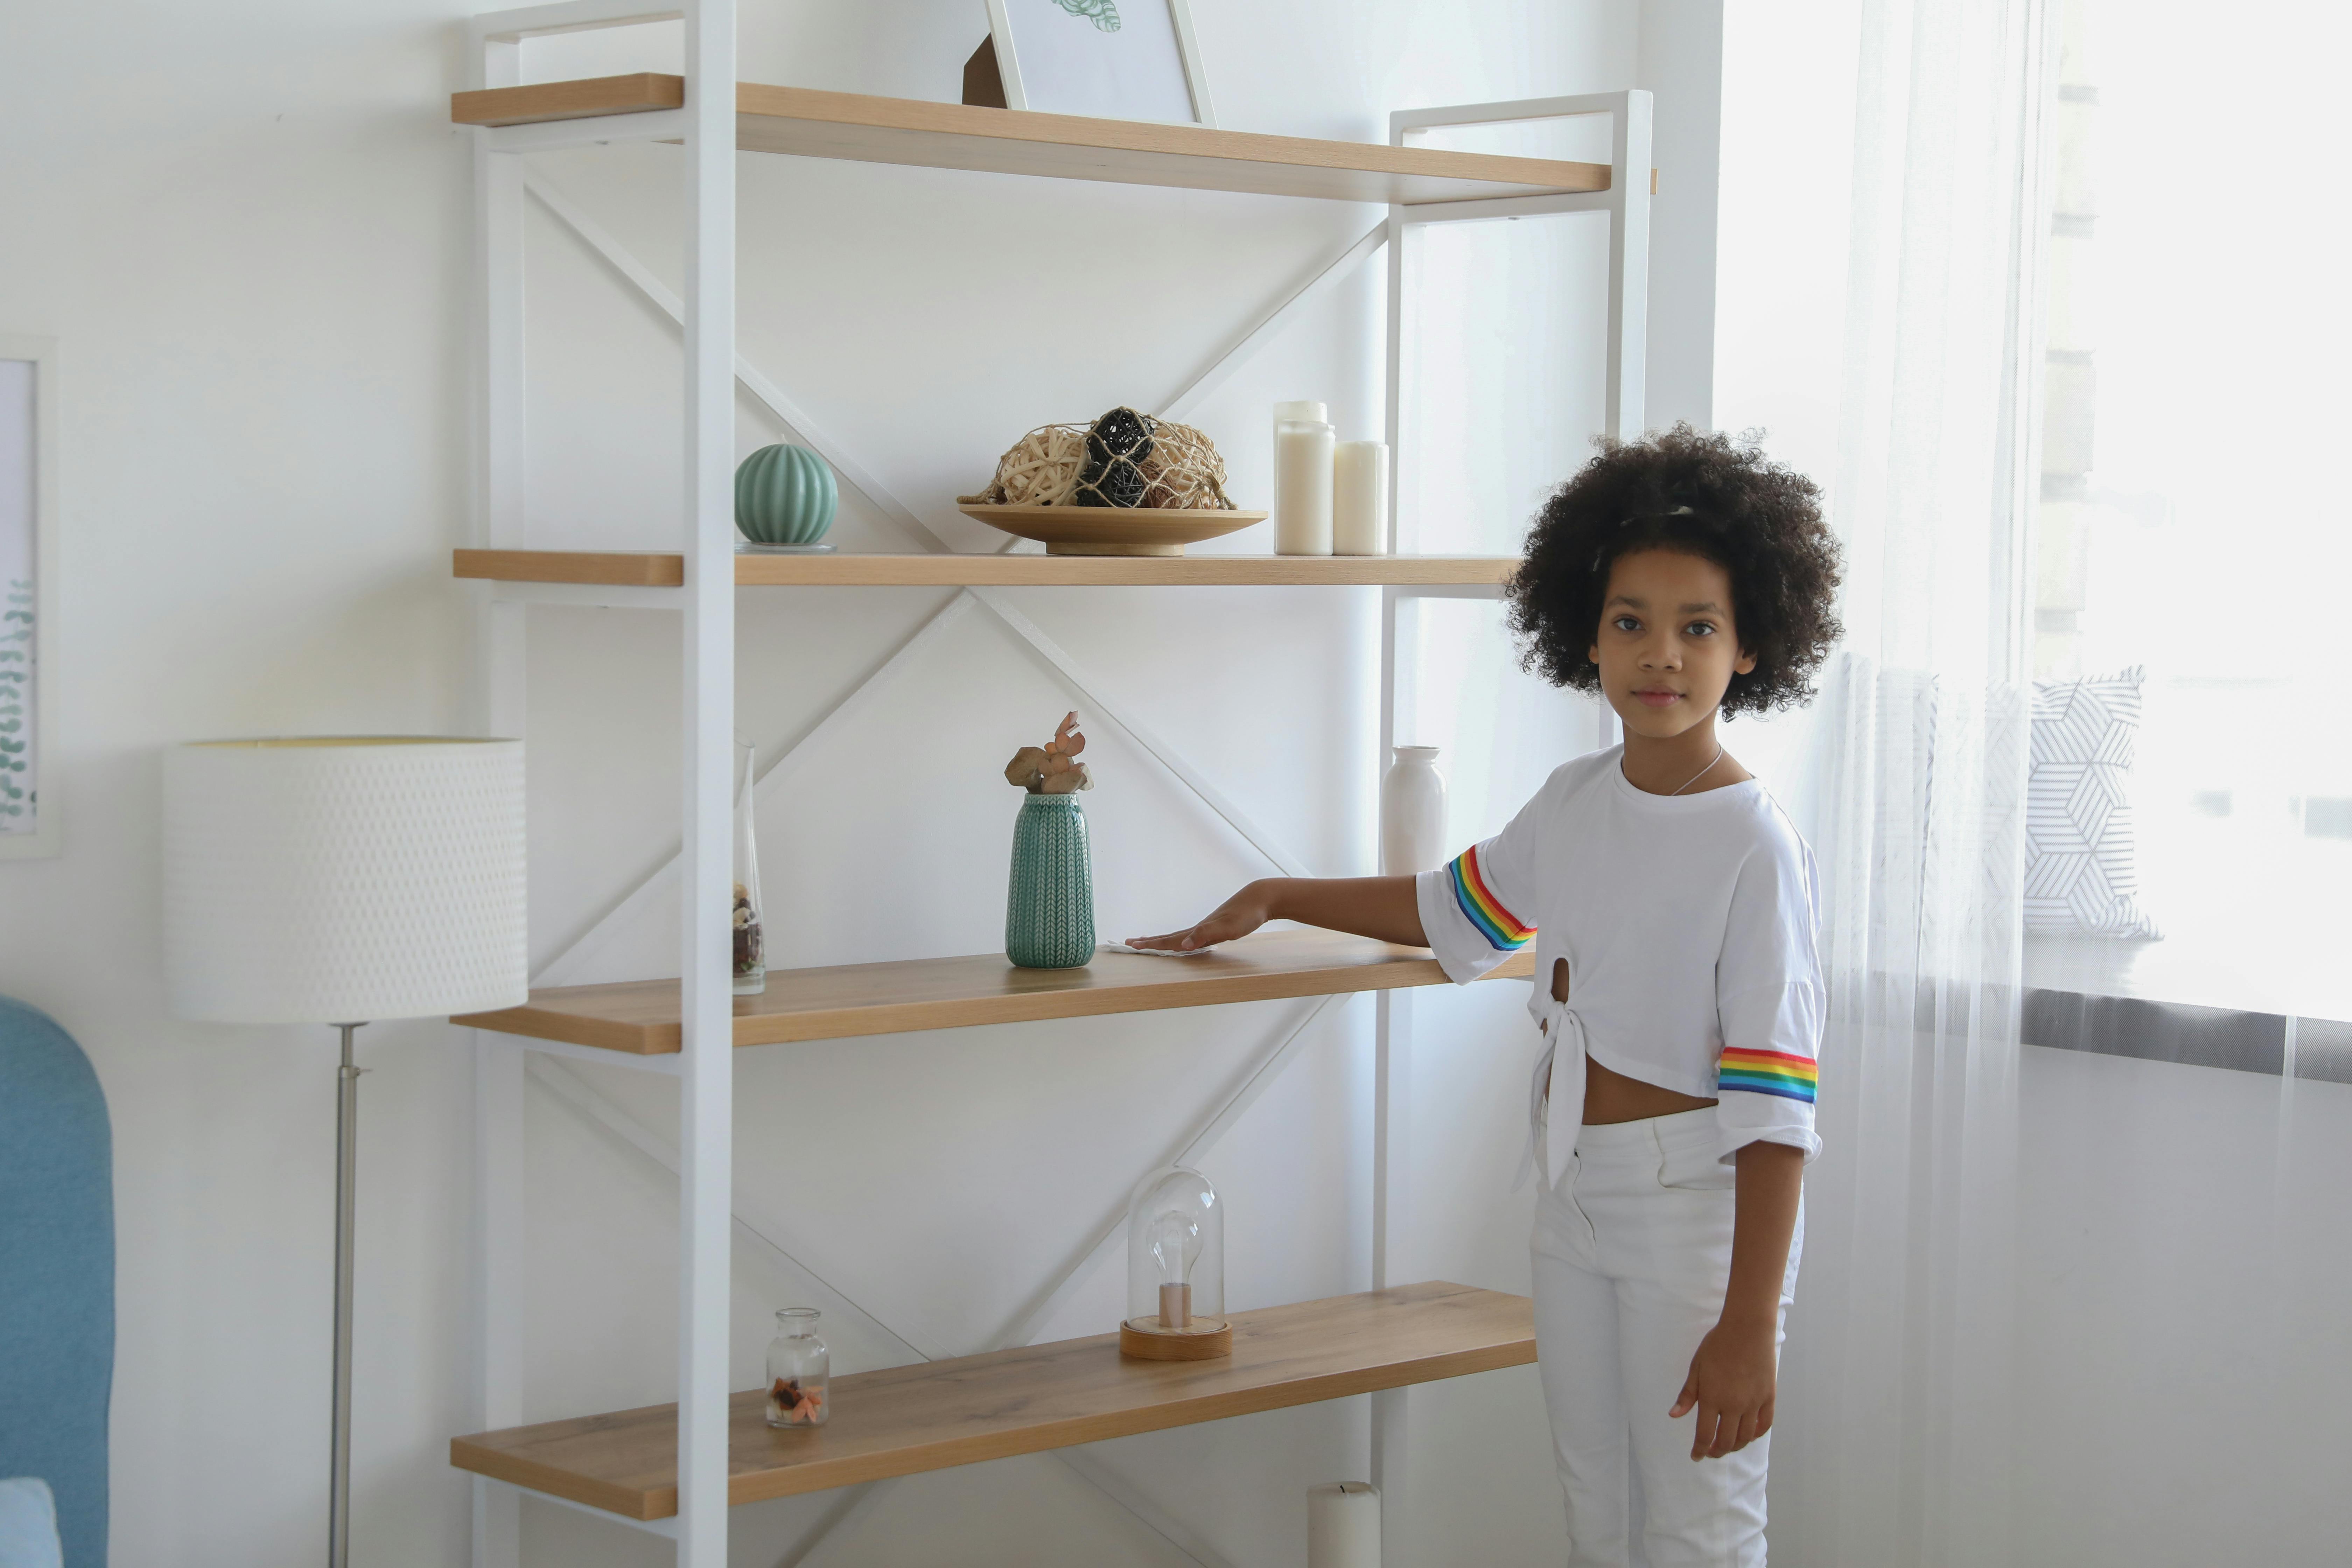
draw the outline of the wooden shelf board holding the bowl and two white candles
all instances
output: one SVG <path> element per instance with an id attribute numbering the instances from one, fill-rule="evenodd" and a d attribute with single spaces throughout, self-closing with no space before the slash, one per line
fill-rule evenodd
<path id="1" fill-rule="evenodd" d="M 739 555 L 753 588 L 1491 588 L 1512 555 Z M 677 588 L 682 555 L 456 550 L 461 578 Z"/>

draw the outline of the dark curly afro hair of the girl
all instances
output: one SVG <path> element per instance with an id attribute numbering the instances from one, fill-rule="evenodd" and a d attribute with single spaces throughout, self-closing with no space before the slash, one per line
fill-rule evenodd
<path id="1" fill-rule="evenodd" d="M 1764 456 L 1757 437 L 1675 425 L 1599 456 L 1552 491 L 1505 583 L 1519 663 L 1555 686 L 1599 691 L 1592 663 L 1609 569 L 1637 550 L 1682 550 L 1731 576 L 1731 618 L 1757 668 L 1733 675 L 1722 712 L 1769 712 L 1813 696 L 1837 623 L 1839 550 L 1820 487 Z"/>

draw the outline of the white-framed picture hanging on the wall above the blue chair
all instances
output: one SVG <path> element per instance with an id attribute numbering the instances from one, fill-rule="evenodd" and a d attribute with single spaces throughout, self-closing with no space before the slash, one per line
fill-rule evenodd
<path id="1" fill-rule="evenodd" d="M 0 334 L 0 860 L 59 853 L 56 339 Z"/>

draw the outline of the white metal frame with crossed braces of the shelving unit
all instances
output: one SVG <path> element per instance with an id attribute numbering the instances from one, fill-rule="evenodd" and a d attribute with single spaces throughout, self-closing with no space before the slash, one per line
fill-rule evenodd
<path id="1" fill-rule="evenodd" d="M 1197 42 L 1190 35 L 1190 16 L 1181 0 L 1171 5 L 1178 21 L 1178 40 L 1185 49 L 1185 73 L 1195 89 L 1202 122 L 1209 120 L 1207 87 L 1200 78 Z M 861 491 L 875 510 L 898 524 L 927 550 L 946 550 L 946 541 L 913 508 L 894 496 L 873 473 L 844 451 L 835 440 L 816 430 L 809 418 L 769 376 L 734 353 L 734 0 L 694 0 L 677 7 L 642 7 L 628 0 L 562 0 L 517 12 L 485 14 L 473 21 L 473 59 L 480 66 L 475 85 L 503 87 L 520 80 L 520 45 L 524 38 L 569 33 L 602 26 L 630 26 L 640 21 L 663 21 L 684 14 L 687 19 L 687 103 L 677 110 L 612 115 L 593 120 L 564 120 L 553 125 L 517 125 L 475 132 L 475 261 L 480 296 L 475 303 L 475 331 L 482 346 L 477 402 L 477 538 L 492 548 L 532 548 L 529 515 L 524 505 L 524 341 L 522 341 L 522 221 L 524 205 L 539 200 L 546 209 L 572 228 L 583 242 L 604 256 L 614 270 L 637 287 L 652 303 L 663 308 L 684 334 L 687 350 L 687 494 L 684 517 L 687 557 L 684 588 L 576 588 L 555 583 L 494 583 L 482 590 L 482 724 L 489 733 L 524 733 L 524 614 L 529 604 L 604 604 L 626 609 L 673 609 L 682 614 L 682 637 L 687 651 L 687 757 L 684 757 L 684 830 L 680 856 L 673 867 L 656 872 L 635 893 L 623 898 L 590 931 L 586 931 L 564 957 L 541 976 L 541 983 L 564 983 L 567 969 L 593 961 L 595 950 L 609 931 L 633 917 L 642 900 L 670 877 L 682 877 L 682 929 L 680 973 L 687 976 L 682 1051 L 675 1058 L 630 1058 L 612 1051 L 588 1051 L 546 1039 L 522 1039 L 503 1034 L 475 1034 L 475 1314 L 477 1314 L 477 1418 L 485 1427 L 508 1427 L 524 1420 L 522 1410 L 522 1237 L 524 1237 L 524 1175 L 522 1175 L 522 1098 L 529 1081 L 539 1081 L 574 1112 L 588 1117 L 607 1133 L 675 1171 L 680 1194 L 680 1345 L 677 1345 L 677 1399 L 680 1399 L 680 1509 L 673 1521 L 623 1521 L 602 1509 L 586 1509 L 630 1523 L 652 1535 L 677 1542 L 680 1568 L 724 1568 L 727 1563 L 727 1300 L 729 1300 L 729 1248 L 734 1234 L 746 1234 L 755 1244 L 776 1253 L 790 1267 L 835 1293 L 861 1316 L 863 1307 L 823 1274 L 802 1262 L 788 1244 L 786 1232 L 769 1222 L 748 1220 L 734 1201 L 731 1190 L 731 1112 L 734 1112 L 734 1039 L 727 973 L 727 931 L 722 912 L 727 907 L 729 879 L 729 762 L 734 731 L 734 388 L 741 383 L 802 442 L 818 449 L 828 463 Z M 1002 54 L 1002 49 L 1000 49 Z M 727 92 L 703 92 L 706 82 L 722 82 Z M 1007 82 L 1011 87 L 1011 82 Z M 1446 202 L 1435 207 L 1390 207 L 1385 221 L 1322 266 L 1308 282 L 1294 289 L 1249 331 L 1237 336 L 1216 360 L 1197 371 L 1164 411 L 1181 416 L 1223 386 L 1244 362 L 1270 343 L 1296 315 L 1298 308 L 1319 299 L 1338 284 L 1359 261 L 1367 261 L 1381 244 L 1388 244 L 1388 437 L 1392 463 L 1399 463 L 1411 433 L 1404 428 L 1406 402 L 1402 388 L 1411 376 L 1411 346 L 1402 303 L 1411 287 L 1414 256 L 1418 252 L 1416 230 L 1432 221 L 1517 219 L 1550 212 L 1606 212 L 1611 219 L 1609 249 L 1609 393 L 1606 433 L 1621 435 L 1642 428 L 1642 331 L 1646 322 L 1646 244 L 1649 244 L 1649 94 L 1621 92 L 1576 99 L 1536 99 L 1524 103 L 1484 103 L 1470 108 L 1432 108 L 1397 113 L 1390 118 L 1390 139 L 1404 146 L 1406 139 L 1439 125 L 1482 125 L 1508 120 L 1541 120 L 1562 115 L 1613 118 L 1611 139 L 1611 188 L 1606 193 L 1559 195 L 1559 197 L 1510 197 L 1486 202 Z M 687 292 L 684 299 L 670 294 L 642 263 L 619 242 L 600 230 L 576 205 L 546 179 L 522 165 L 522 153 L 593 146 L 612 141 L 684 141 L 687 146 Z M 1411 538 L 1411 517 L 1402 505 L 1390 524 L 1390 548 Z M 1383 588 L 1383 642 L 1381 642 L 1381 757 L 1399 733 L 1399 712 L 1411 717 L 1411 682 L 1399 679 L 1399 670 L 1414 668 L 1418 637 L 1418 599 L 1425 597 L 1491 597 L 1486 588 Z M 906 665 L 908 656 L 955 623 L 971 607 L 990 616 L 1080 693 L 1098 722 L 1127 733 L 1145 755 L 1167 766 L 1192 795 L 1235 835 L 1254 846 L 1270 865 L 1298 875 L 1305 867 L 1287 853 L 1270 835 L 1256 827 L 1214 780 L 1188 764 L 1174 748 L 1155 738 L 1131 717 L 1120 717 L 1120 703 L 1110 701 L 1098 682 L 1089 679 L 1080 665 L 1051 639 L 1044 637 L 1004 597 L 969 588 L 948 599 L 924 625 L 920 625 L 861 686 L 842 698 L 835 710 L 818 719 L 788 752 L 769 766 L 762 788 L 783 788 L 816 743 L 870 691 L 887 684 L 887 677 Z M 1131 710 L 1124 710 L 1131 712 Z M 1319 999 L 1282 1032 L 1270 1051 L 1258 1058 L 1235 1088 L 1221 1095 L 1209 1114 L 1183 1140 L 1181 1157 L 1195 1157 L 1230 1131 L 1242 1112 L 1265 1093 L 1282 1070 L 1298 1058 L 1298 1046 L 1310 1025 L 1324 1018 L 1334 997 Z M 1395 1260 L 1395 1237 L 1399 1232 L 1397 1199 L 1406 1190 L 1409 1150 L 1404 1128 L 1390 1114 L 1390 1084 L 1409 1070 L 1411 1060 L 1411 1001 L 1406 994 L 1381 992 L 1376 997 L 1376 1074 L 1374 1074 L 1374 1286 L 1390 1284 Z M 675 1147 L 663 1150 L 652 1133 L 628 1119 L 626 1112 L 602 1100 L 583 1079 L 546 1060 L 590 1060 L 607 1067 L 637 1067 L 680 1079 L 680 1128 Z M 1124 1192 L 1124 1190 L 1122 1190 Z M 1030 1305 L 990 1347 L 1025 1345 L 1051 1312 L 1068 1298 L 1094 1267 L 1115 1251 L 1117 1204 L 1112 1194 L 1105 1222 L 1068 1265 L 1037 1288 Z M 938 1356 L 943 1347 L 924 1345 L 891 1331 L 913 1354 Z M 1388 1535 L 1392 1561 L 1402 1561 L 1397 1526 L 1404 1516 L 1404 1410 L 1406 1389 L 1374 1394 L 1374 1479 L 1388 1493 Z M 1129 1514 L 1162 1535 L 1178 1552 L 1207 1568 L 1225 1568 L 1223 1561 L 1181 1521 L 1167 1519 L 1148 1497 L 1136 1495 L 1115 1474 L 1087 1460 L 1087 1455 L 1056 1455 L 1075 1474 L 1101 1488 Z M 887 1495 L 889 1483 L 847 1488 L 842 1502 L 795 1547 L 790 1563 L 814 1563 L 828 1537 L 840 1535 L 840 1526 L 854 1521 Z M 520 1561 L 520 1497 L 522 1490 L 475 1479 L 475 1566 L 515 1568 Z M 562 1500 L 557 1500 L 562 1502 Z M 574 1505 L 576 1507 L 576 1505 Z"/>

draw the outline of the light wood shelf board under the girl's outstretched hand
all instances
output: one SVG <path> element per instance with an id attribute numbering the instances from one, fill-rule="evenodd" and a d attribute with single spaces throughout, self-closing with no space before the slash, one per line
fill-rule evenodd
<path id="1" fill-rule="evenodd" d="M 1486 978 L 1524 980 L 1534 964 L 1531 952 L 1519 952 Z M 767 992 L 734 999 L 734 1044 L 779 1046 L 1444 983 L 1437 959 L 1421 947 L 1334 931 L 1251 936 L 1195 959 L 1098 952 L 1084 969 L 1014 969 L 1002 952 L 771 969 Z M 449 1023 L 630 1056 L 668 1056 L 680 1048 L 677 1006 L 677 980 L 626 980 L 534 990 L 522 1006 L 461 1013 Z"/>

